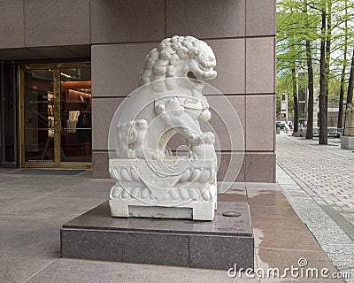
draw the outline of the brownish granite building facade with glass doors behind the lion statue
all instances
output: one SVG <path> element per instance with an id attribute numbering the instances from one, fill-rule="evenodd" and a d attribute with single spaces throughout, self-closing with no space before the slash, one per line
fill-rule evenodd
<path id="1" fill-rule="evenodd" d="M 211 84 L 242 121 L 244 152 L 219 133 L 218 179 L 244 153 L 229 181 L 275 181 L 274 0 L 7 0 L 0 15 L 3 166 L 92 166 L 108 177 L 112 115 L 149 51 L 178 34 L 212 47 Z"/>

